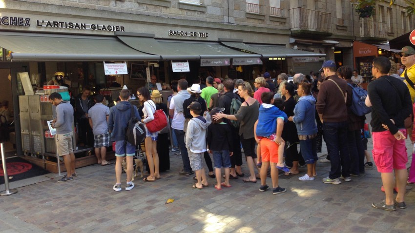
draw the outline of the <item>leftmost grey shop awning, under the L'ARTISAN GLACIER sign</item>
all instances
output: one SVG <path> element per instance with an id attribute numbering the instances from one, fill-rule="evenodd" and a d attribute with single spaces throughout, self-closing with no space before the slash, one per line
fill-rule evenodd
<path id="1" fill-rule="evenodd" d="M 115 37 L 7 33 L 0 35 L 0 47 L 12 51 L 15 61 L 124 61 L 160 60 L 128 47 Z"/>

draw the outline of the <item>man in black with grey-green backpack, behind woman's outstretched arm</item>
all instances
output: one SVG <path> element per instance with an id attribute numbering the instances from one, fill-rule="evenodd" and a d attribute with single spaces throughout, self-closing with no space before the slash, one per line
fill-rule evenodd
<path id="1" fill-rule="evenodd" d="M 224 92 L 220 99 L 219 99 L 219 108 L 225 108 L 223 111 L 226 115 L 235 115 L 239 107 L 241 106 L 241 99 L 239 98 L 236 93 L 233 93 L 233 81 L 232 79 L 226 79 L 223 82 L 224 85 Z M 242 152 L 241 152 L 241 138 L 239 136 L 239 124 L 238 121 L 231 121 L 226 119 L 226 123 L 228 123 L 231 127 L 231 135 L 232 135 L 232 148 L 233 148 L 233 155 L 230 157 L 230 179 L 237 179 L 238 176 L 244 176 L 242 173 Z M 236 168 L 236 170 L 235 170 Z"/>

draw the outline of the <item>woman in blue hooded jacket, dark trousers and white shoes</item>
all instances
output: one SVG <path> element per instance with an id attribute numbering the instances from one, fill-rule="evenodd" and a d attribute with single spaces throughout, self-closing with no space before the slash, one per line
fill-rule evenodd
<path id="1" fill-rule="evenodd" d="M 315 122 L 315 98 L 311 96 L 311 84 L 299 83 L 297 94 L 300 96 L 294 108 L 294 116 L 289 117 L 297 127 L 300 150 L 307 164 L 307 174 L 299 177 L 301 181 L 314 180 L 317 163 L 317 124 Z"/>

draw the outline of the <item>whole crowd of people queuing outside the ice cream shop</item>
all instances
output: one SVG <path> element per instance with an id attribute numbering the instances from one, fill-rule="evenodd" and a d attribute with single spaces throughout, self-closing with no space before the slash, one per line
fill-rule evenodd
<path id="1" fill-rule="evenodd" d="M 373 109 L 373 161 L 382 174 L 382 190 L 386 195 L 384 201 L 372 205 L 388 211 L 396 207 L 406 208 L 402 191 L 405 185 L 415 184 L 415 166 L 412 166 L 410 179 L 407 180 L 405 164 L 408 157 L 404 142 L 407 129 L 411 140 L 415 139 L 415 130 L 412 130 L 415 50 L 404 47 L 399 55 L 406 66 L 402 71 L 400 64 L 388 58 L 373 59 L 374 80 L 368 86 L 366 98 L 366 105 Z M 405 82 L 396 76 L 399 73 Z M 135 147 L 125 142 L 124 136 L 128 119 L 135 116 L 147 124 L 155 119 L 156 110 L 162 109 L 171 118 L 172 149 L 177 148 L 179 152 L 176 155 L 182 157 L 183 169 L 180 174 L 195 174 L 193 179 L 196 182 L 192 188 L 203 189 L 208 186 L 209 175 L 216 178 L 214 187 L 218 191 L 223 187 L 231 187 L 229 180 L 244 177 L 244 182 L 251 183 L 257 183 L 260 179 L 259 191 L 264 192 L 270 188 L 267 184 L 270 168 L 272 194 L 281 194 L 287 189 L 278 184 L 278 170 L 284 171 L 285 175 L 297 175 L 299 167 L 306 166 L 307 173 L 298 177 L 298 180 L 315 180 L 318 172 L 317 153 L 321 152 L 323 139 L 328 151 L 324 160 L 331 163 L 331 169 L 322 182 L 349 182 L 352 176 L 365 173 L 365 167 L 373 166 L 367 151 L 370 133 L 365 115 L 358 115 L 352 109 L 353 89 L 359 88 L 362 82 L 356 70 L 346 66 L 337 69 L 332 60 L 323 63 L 320 73 L 295 74 L 292 82 L 284 73 L 272 81 L 268 72 L 255 78 L 253 86 L 242 79 L 207 77 L 205 84 L 200 84 L 199 79 L 199 83 L 188 87 L 187 80 L 182 78 L 172 83 L 173 95 L 168 98 L 167 105 L 162 103 L 157 90 L 152 90 L 150 94 L 146 87 L 137 90 L 142 103 L 140 109 L 128 102 L 131 93 L 126 89 L 120 93 L 121 101 L 111 109 L 102 104 L 101 95 L 94 98 L 94 107 L 88 107 L 90 100 L 83 98 L 83 94 L 86 94 L 83 93 L 79 108 L 87 107 L 89 111 L 78 118 L 89 119 L 99 163 L 108 163 L 102 155 L 109 144 L 110 133 L 111 140 L 116 141 L 115 191 L 122 190 L 121 163 L 124 155 L 127 155 L 125 190 L 134 187 L 130 174 Z M 71 123 L 66 117 L 67 114 L 73 114 L 73 109 L 64 105 L 66 101 L 62 101 L 57 93 L 49 99 L 57 106 L 58 118 L 54 126 L 58 128 L 58 146 L 69 147 L 58 150 L 64 157 L 68 171 L 61 181 L 72 180 L 76 176 L 71 165 L 73 150 L 69 138 L 72 132 L 65 127 Z M 410 119 L 411 126 L 404 124 L 406 118 Z M 145 131 L 149 175 L 143 181 L 154 182 L 161 178 L 161 171 L 169 169 L 168 151 L 160 153 L 163 149 L 159 147 L 162 144 L 166 150 L 168 137 L 163 132 L 150 132 L 147 127 Z M 244 160 L 249 175 L 242 172 Z M 398 193 L 396 198 L 393 197 L 394 189 Z"/>

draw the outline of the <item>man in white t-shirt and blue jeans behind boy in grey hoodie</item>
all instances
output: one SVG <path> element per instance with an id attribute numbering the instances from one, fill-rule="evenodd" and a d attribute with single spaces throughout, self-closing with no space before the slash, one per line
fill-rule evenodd
<path id="1" fill-rule="evenodd" d="M 183 160 L 183 170 L 181 175 L 191 175 L 193 171 L 190 167 L 189 156 L 187 154 L 187 148 L 185 143 L 185 132 L 183 131 L 185 126 L 185 116 L 183 115 L 183 102 L 190 97 L 187 92 L 187 80 L 180 79 L 177 84 L 177 94 L 171 98 L 168 113 L 170 117 L 173 117 L 171 121 L 171 128 L 174 129 L 174 133 L 177 137 L 180 152 Z"/>

